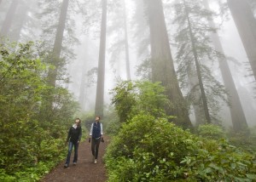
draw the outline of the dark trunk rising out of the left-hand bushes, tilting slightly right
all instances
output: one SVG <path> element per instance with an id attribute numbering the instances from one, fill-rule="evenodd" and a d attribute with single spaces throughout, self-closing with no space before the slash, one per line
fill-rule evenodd
<path id="1" fill-rule="evenodd" d="M 59 24 L 56 31 L 55 43 L 53 48 L 53 65 L 55 65 L 54 70 L 49 71 L 49 84 L 55 87 L 55 82 L 57 80 L 58 71 L 61 67 L 61 48 L 62 48 L 62 40 L 63 34 L 65 30 L 65 23 L 67 20 L 67 8 L 68 8 L 69 0 L 63 0 L 61 4 L 61 14 L 59 18 Z"/>

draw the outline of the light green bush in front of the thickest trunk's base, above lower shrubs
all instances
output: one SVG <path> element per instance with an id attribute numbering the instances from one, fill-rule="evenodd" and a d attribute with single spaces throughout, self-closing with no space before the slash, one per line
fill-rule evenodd
<path id="1" fill-rule="evenodd" d="M 129 117 L 141 112 L 161 117 L 165 116 L 165 106 L 170 104 L 164 92 L 165 88 L 160 82 L 123 81 L 111 92 L 112 104 L 120 122 L 126 122 Z"/>

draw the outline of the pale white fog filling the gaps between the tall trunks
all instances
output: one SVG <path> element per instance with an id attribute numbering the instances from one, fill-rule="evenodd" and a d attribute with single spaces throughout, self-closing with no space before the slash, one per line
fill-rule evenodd
<path id="1" fill-rule="evenodd" d="M 231 1 L 231 0 L 230 0 Z M 59 21 L 61 3 L 64 0 L 2 0 L 0 1 L 0 27 L 1 37 L 10 41 L 26 42 L 39 41 L 45 48 L 53 48 L 56 28 Z M 146 3 L 145 3 L 146 2 Z M 124 3 L 126 12 L 127 41 L 129 43 L 129 60 L 131 80 L 144 79 L 143 72 L 137 75 L 138 66 L 144 60 L 150 59 L 150 32 L 146 5 L 143 0 L 108 0 L 107 32 L 105 50 L 105 74 L 104 74 L 104 105 L 108 108 L 111 103 L 109 91 L 122 79 L 127 80 L 125 60 L 125 20 Z M 152 2 L 152 1 L 150 1 Z M 174 20 L 174 3 L 178 1 L 162 1 L 165 10 L 166 29 L 168 30 L 172 58 L 175 68 L 177 46 L 174 43 L 174 35 L 177 33 L 177 25 Z M 187 3 L 189 4 L 188 0 Z M 219 13 L 218 1 L 208 0 L 211 9 Z M 225 0 L 223 3 L 227 3 Z M 69 82 L 59 82 L 68 88 L 79 101 L 82 111 L 94 111 L 96 103 L 97 66 L 100 53 L 102 1 L 100 0 L 69 0 L 67 9 L 66 26 L 63 33 L 61 58 L 67 60 L 64 66 L 67 69 Z M 255 12 L 253 1 L 252 12 Z M 13 5 L 12 5 L 13 4 Z M 15 8 L 12 6 L 14 6 Z M 218 36 L 224 48 L 224 54 L 228 58 L 228 64 L 236 90 L 241 100 L 248 126 L 256 126 L 256 90 L 255 77 L 250 65 L 247 51 L 241 42 L 241 36 L 237 30 L 235 21 L 230 14 L 230 9 L 224 4 L 224 20 L 214 19 L 218 25 Z M 254 8 L 253 8 L 254 7 Z M 9 9 L 13 9 L 9 12 Z M 12 14 L 12 15 L 10 15 Z M 9 22 L 7 27 L 6 22 Z M 254 22 L 256 20 L 254 18 Z M 3 30 L 6 28 L 6 30 Z M 256 37 L 256 34 L 255 34 Z M 252 42 L 255 41 L 251 40 Z M 256 49 L 254 48 L 255 52 Z M 254 61 L 256 59 L 254 58 Z M 218 61 L 212 64 L 212 72 L 219 82 L 223 83 Z M 186 94 L 186 88 L 182 88 Z M 225 126 L 231 126 L 230 111 L 223 104 L 218 115 Z M 190 118 L 195 122 L 195 116 L 191 111 Z"/>

